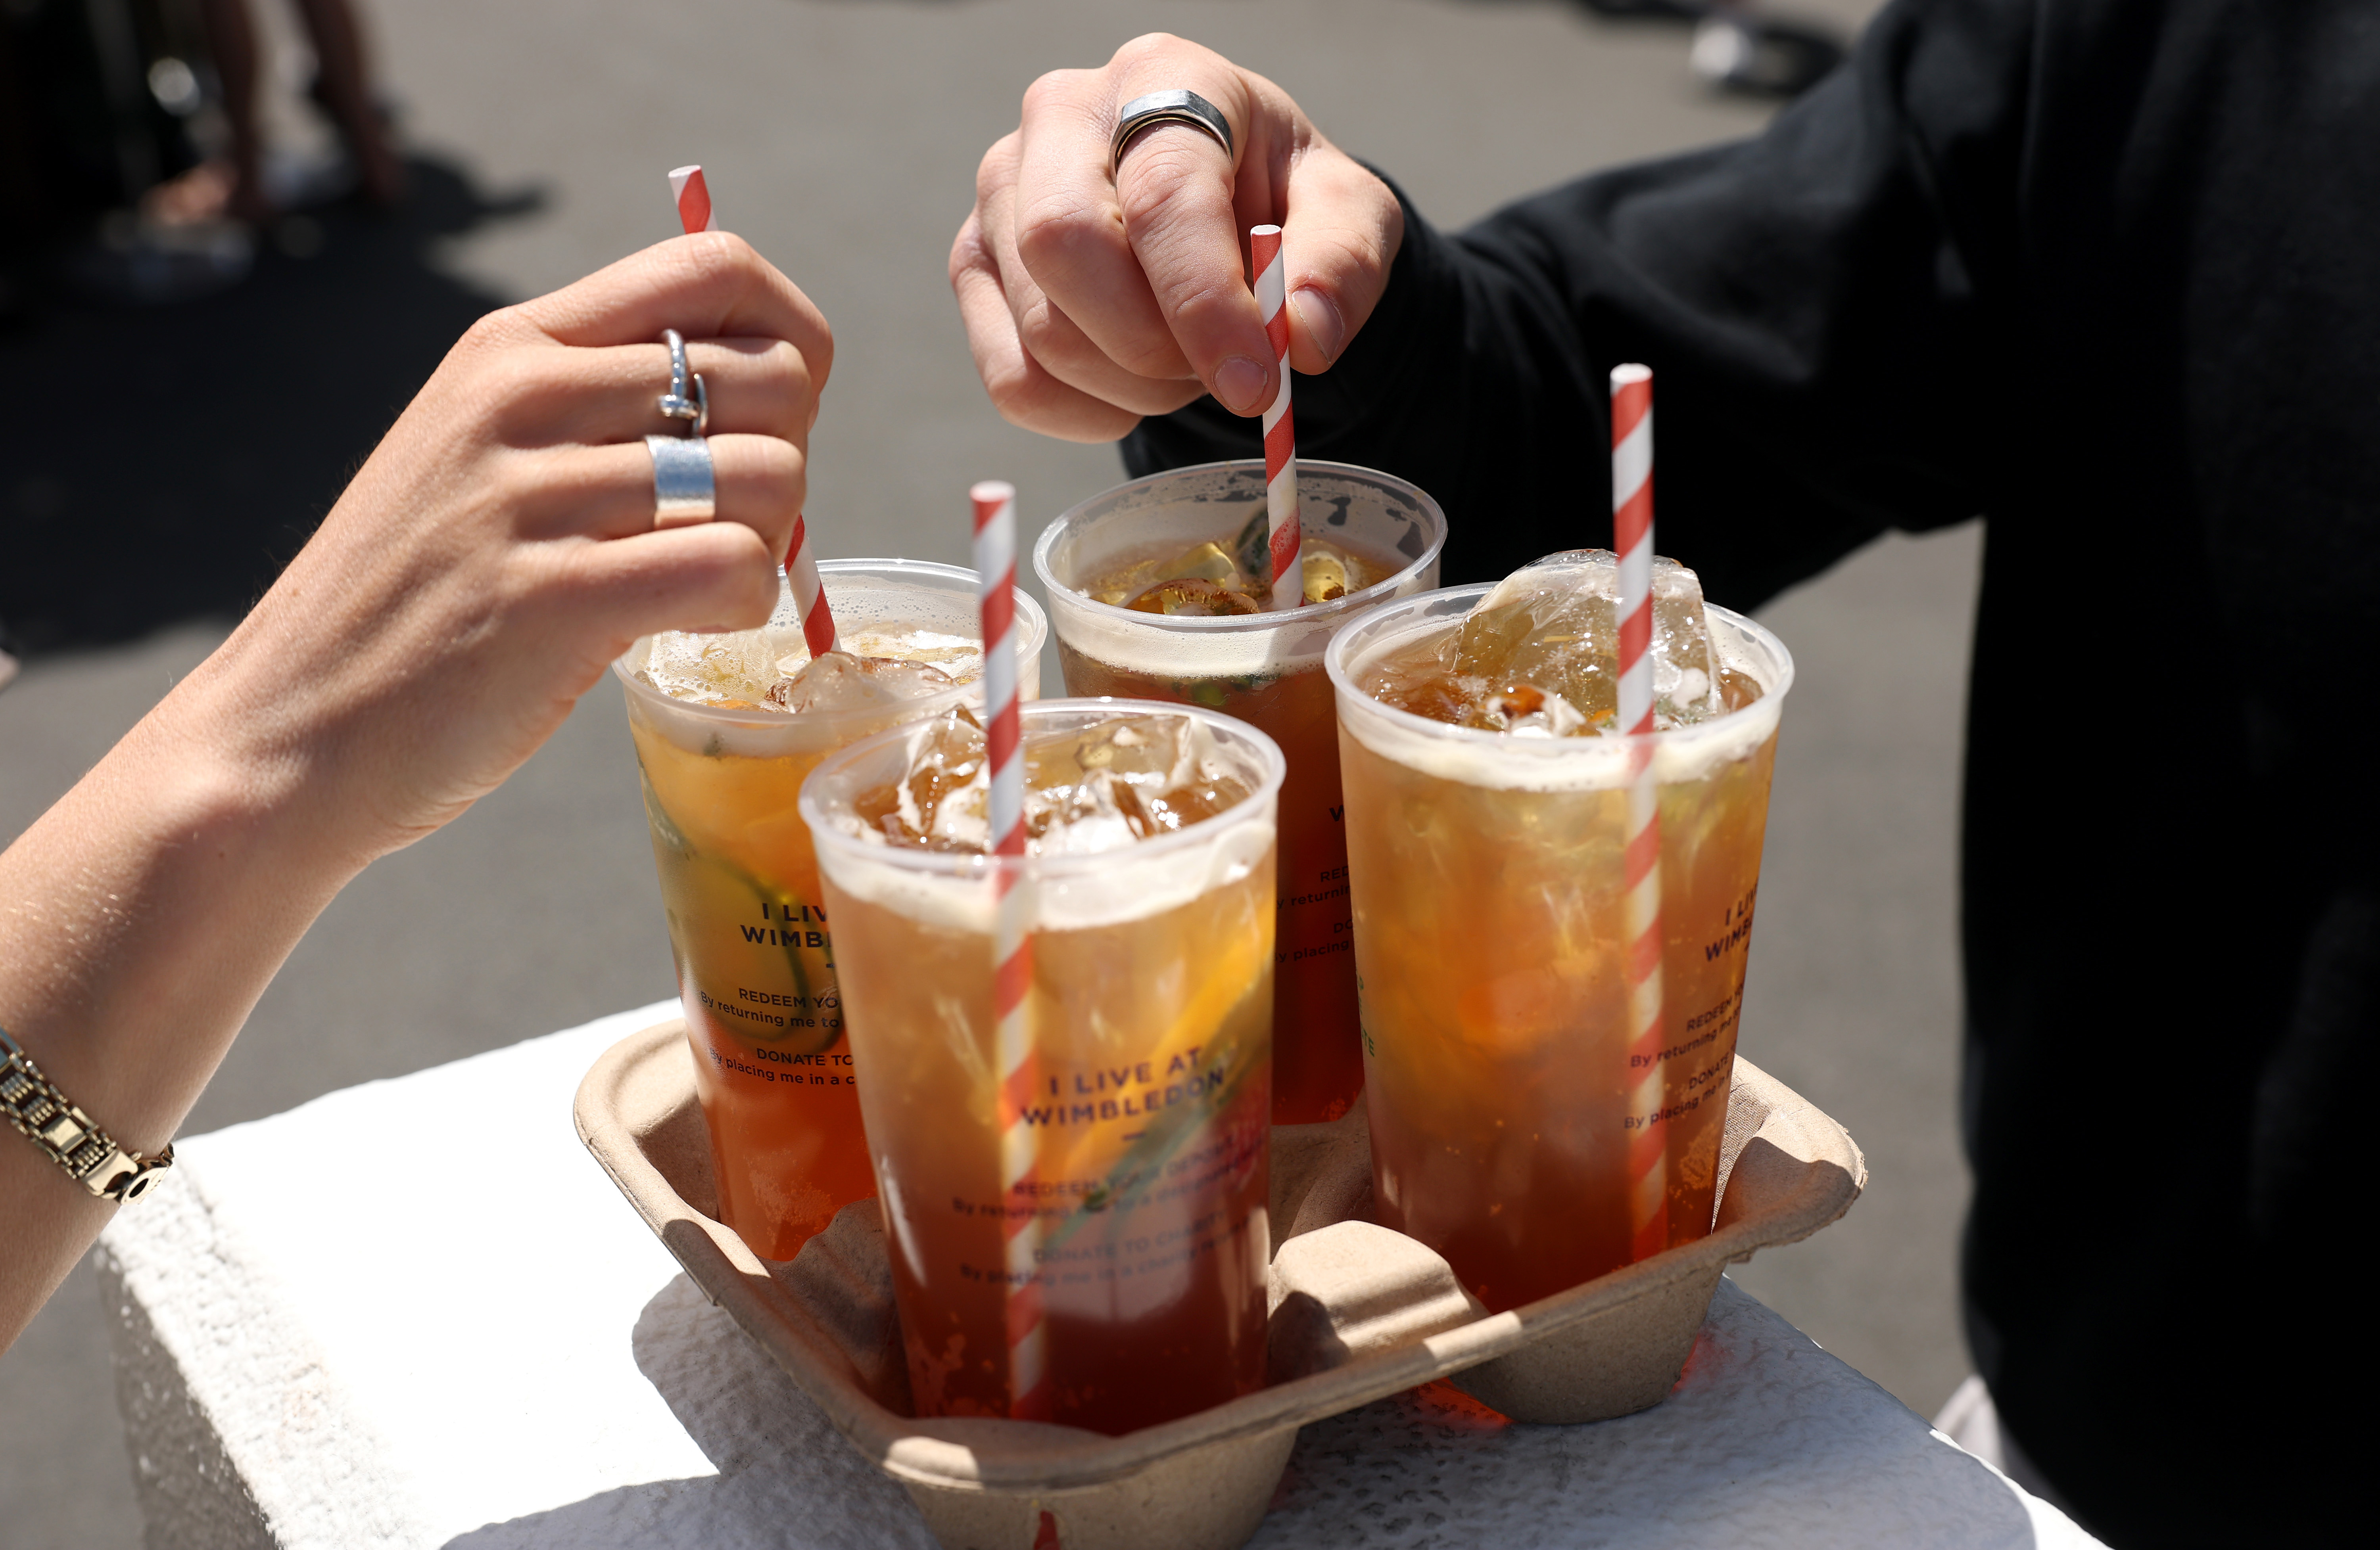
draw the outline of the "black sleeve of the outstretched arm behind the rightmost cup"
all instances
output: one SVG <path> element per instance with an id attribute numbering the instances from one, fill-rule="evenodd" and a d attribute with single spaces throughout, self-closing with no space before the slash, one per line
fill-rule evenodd
<path id="1" fill-rule="evenodd" d="M 1754 606 L 1885 528 L 1990 502 L 1975 409 L 2009 307 L 2033 45 L 2023 0 L 1904 0 L 1756 140 L 1626 166 L 1445 235 L 1404 200 L 1388 292 L 1297 380 L 1307 456 L 1447 509 L 1445 578 L 1611 542 L 1606 373 L 1654 368 L 1656 523 Z M 1257 456 L 1214 399 L 1142 421 L 1138 473 Z"/>

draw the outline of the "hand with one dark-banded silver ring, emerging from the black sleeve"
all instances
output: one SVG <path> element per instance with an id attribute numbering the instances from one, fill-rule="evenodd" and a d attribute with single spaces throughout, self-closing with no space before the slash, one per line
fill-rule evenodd
<path id="1" fill-rule="evenodd" d="M 1230 124 L 1235 162 L 1180 124 L 1140 131 L 1109 169 L 1119 109 L 1185 88 Z M 1026 90 L 1023 121 L 976 171 L 950 250 L 966 340 L 1009 421 L 1111 442 L 1145 414 L 1214 392 L 1273 399 L 1273 349 L 1247 273 L 1247 228 L 1278 223 L 1290 364 L 1328 371 L 1371 316 L 1404 212 L 1278 86 L 1214 50 L 1150 33 L 1102 69 Z"/>

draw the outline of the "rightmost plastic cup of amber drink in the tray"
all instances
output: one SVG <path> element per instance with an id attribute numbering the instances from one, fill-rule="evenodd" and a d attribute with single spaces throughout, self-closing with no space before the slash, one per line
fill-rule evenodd
<path id="1" fill-rule="evenodd" d="M 1628 739 L 1457 727 L 1357 687 L 1488 592 L 1378 609 L 1340 630 L 1328 670 L 1378 1220 L 1507 1310 L 1633 1258 L 1628 1143 L 1642 1127 L 1666 1132 L 1664 1246 L 1711 1229 L 1792 656 L 1749 618 L 1709 609 L 1721 668 L 1761 694 L 1652 735 L 1664 1096 L 1633 1113 L 1645 1072 L 1628 1032 Z"/>

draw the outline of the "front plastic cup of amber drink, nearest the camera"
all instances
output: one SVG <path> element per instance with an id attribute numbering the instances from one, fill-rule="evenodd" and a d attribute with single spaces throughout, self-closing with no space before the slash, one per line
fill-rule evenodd
<path id="1" fill-rule="evenodd" d="M 857 744 L 802 787 L 921 1417 L 1009 1414 L 1023 1293 L 1052 1395 L 1038 1419 L 1123 1434 L 1264 1384 L 1283 758 L 1242 723 L 1147 701 L 1026 706 L 1026 749 L 1123 716 L 1207 723 L 1252 794 L 1121 849 L 992 858 L 845 827 L 919 730 Z M 1007 1120 L 995 865 L 1033 899 L 1031 1056 Z M 1033 1155 L 1007 1191 L 1004 1141 Z M 1009 1272 L 1019 1227 L 1035 1234 L 1031 1281 Z"/>

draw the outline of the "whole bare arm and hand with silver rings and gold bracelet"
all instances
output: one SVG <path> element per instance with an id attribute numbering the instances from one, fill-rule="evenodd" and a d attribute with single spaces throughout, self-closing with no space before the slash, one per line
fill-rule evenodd
<path id="1" fill-rule="evenodd" d="M 664 328 L 716 521 L 654 530 Z M 0 851 L 0 1027 L 121 1146 L 174 1134 L 312 920 L 462 813 L 652 630 L 776 604 L 833 338 L 738 238 L 481 319 L 231 639 Z M 107 1205 L 0 1141 L 0 1350 Z"/>

